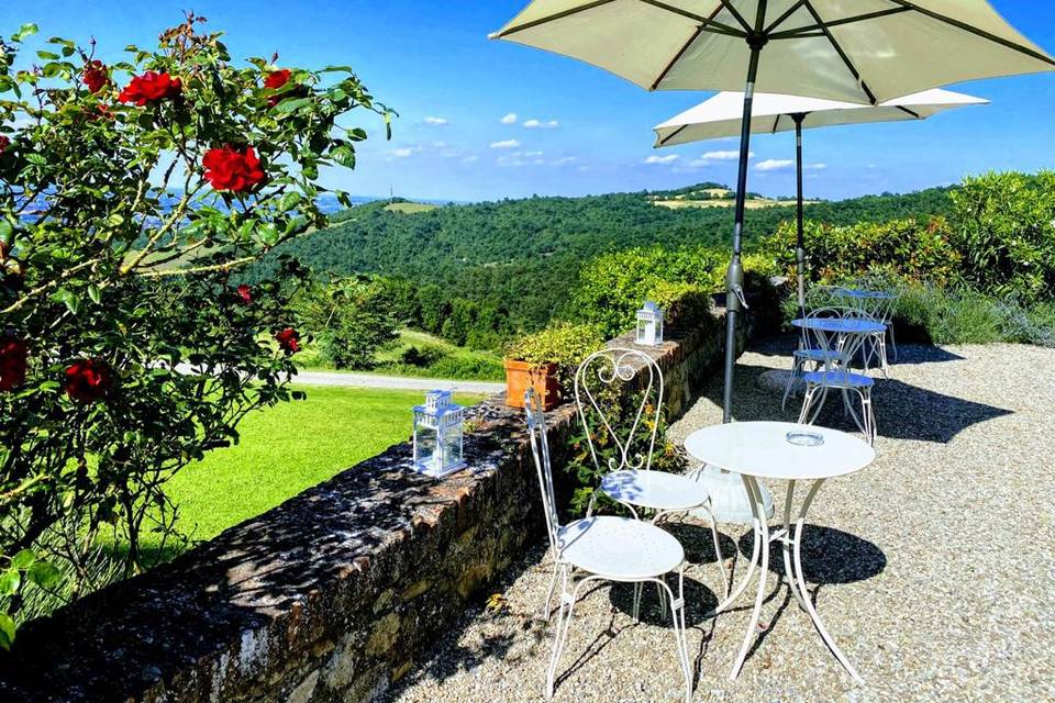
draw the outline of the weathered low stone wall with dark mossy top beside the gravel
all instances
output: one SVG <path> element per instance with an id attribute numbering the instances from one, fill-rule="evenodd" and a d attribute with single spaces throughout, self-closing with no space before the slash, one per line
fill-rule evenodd
<path id="1" fill-rule="evenodd" d="M 654 349 L 675 416 L 720 365 L 721 317 Z M 404 469 L 409 445 L 393 446 L 29 624 L 0 654 L 0 701 L 370 700 L 526 542 L 543 538 L 521 412 L 500 398 L 481 406 L 466 439 L 469 470 L 427 479 Z M 573 420 L 569 406 L 551 413 L 555 450 Z"/>

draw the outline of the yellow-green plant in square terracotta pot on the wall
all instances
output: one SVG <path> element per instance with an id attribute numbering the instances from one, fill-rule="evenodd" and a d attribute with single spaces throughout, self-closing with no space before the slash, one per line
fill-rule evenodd
<path id="1" fill-rule="evenodd" d="M 603 343 L 598 325 L 570 322 L 521 337 L 506 354 L 506 404 L 523 408 L 524 391 L 534 388 L 545 410 L 559 405 L 579 364 Z"/>

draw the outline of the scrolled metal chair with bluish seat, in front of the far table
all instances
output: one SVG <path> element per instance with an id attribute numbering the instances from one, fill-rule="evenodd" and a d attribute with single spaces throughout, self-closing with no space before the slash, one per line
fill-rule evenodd
<path id="1" fill-rule="evenodd" d="M 799 422 L 809 424 L 817 422 L 829 391 L 837 390 L 842 393 L 846 412 L 865 434 L 868 444 L 873 444 L 876 437 L 876 416 L 871 405 L 871 389 L 875 380 L 865 373 L 854 372 L 852 367 L 853 359 L 860 353 L 862 345 L 870 333 L 853 332 L 855 324 L 860 326 L 862 322 L 854 314 L 845 314 L 842 309 L 823 308 L 811 311 L 807 315 L 807 325 L 803 330 L 808 335 L 810 347 L 821 352 L 823 364 L 818 370 L 802 375 L 802 380 L 806 381 L 806 395 L 802 399 Z M 851 403 L 849 393 L 852 392 L 860 399 L 860 416 Z"/>

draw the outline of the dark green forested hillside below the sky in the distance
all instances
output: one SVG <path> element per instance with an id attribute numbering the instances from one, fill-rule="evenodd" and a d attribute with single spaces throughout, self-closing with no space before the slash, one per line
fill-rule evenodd
<path id="1" fill-rule="evenodd" d="M 653 204 L 653 200 L 715 186 L 502 200 L 418 213 L 369 203 L 340 213 L 332 227 L 290 242 L 280 253 L 295 255 L 319 275 L 370 274 L 436 284 L 448 300 L 509 310 L 514 327 L 530 330 L 569 304 L 581 264 L 598 255 L 651 244 L 724 245 L 732 210 L 670 210 Z M 949 189 L 930 189 L 819 202 L 808 205 L 807 215 L 848 225 L 945 214 L 948 193 Z M 792 208 L 748 211 L 747 246 L 793 216 Z"/>

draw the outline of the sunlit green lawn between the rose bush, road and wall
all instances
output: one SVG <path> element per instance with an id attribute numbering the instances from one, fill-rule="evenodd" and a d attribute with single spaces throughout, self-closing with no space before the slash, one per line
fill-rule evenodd
<path id="1" fill-rule="evenodd" d="M 408 439 L 417 391 L 301 387 L 308 400 L 245 419 L 237 446 L 218 449 L 169 482 L 180 528 L 208 539 Z M 473 404 L 474 395 L 456 397 Z M 148 539 L 148 536 L 145 536 Z M 149 545 L 145 545 L 149 546 Z"/>

